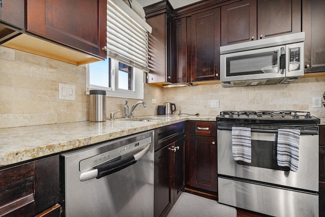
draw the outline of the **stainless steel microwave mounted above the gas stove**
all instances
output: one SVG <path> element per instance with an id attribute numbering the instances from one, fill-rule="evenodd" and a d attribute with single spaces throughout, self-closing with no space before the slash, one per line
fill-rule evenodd
<path id="1" fill-rule="evenodd" d="M 290 83 L 304 75 L 305 33 L 220 47 L 223 87 Z"/>

